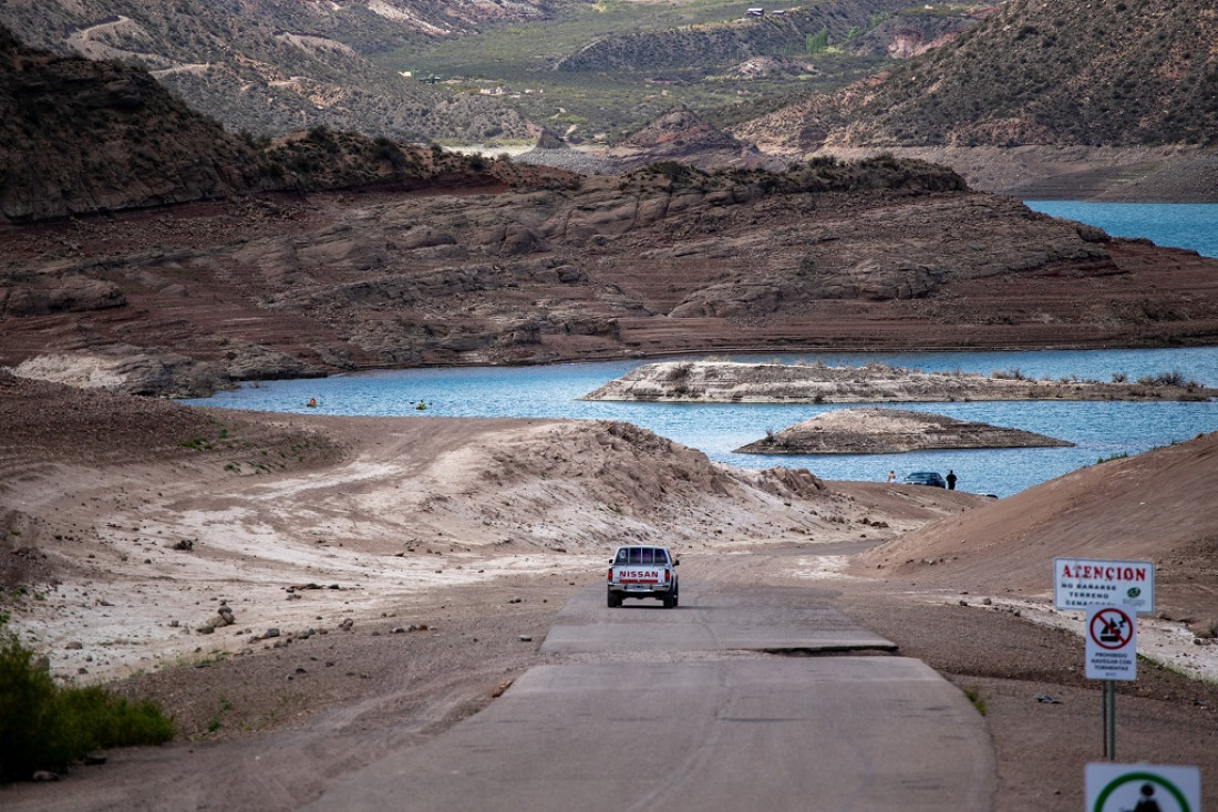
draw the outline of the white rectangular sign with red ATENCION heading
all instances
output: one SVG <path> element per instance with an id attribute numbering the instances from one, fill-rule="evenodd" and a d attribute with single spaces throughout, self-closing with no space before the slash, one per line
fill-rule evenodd
<path id="1" fill-rule="evenodd" d="M 1155 564 L 1150 561 L 1054 558 L 1054 606 L 1123 606 L 1138 614 L 1155 611 Z"/>

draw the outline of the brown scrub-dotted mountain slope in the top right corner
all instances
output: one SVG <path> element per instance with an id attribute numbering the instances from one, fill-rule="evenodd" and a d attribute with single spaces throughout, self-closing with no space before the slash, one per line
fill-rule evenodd
<path id="1" fill-rule="evenodd" d="M 822 146 L 1216 145 L 1211 0 L 1012 0 L 879 79 L 736 128 Z"/>

